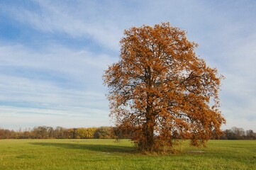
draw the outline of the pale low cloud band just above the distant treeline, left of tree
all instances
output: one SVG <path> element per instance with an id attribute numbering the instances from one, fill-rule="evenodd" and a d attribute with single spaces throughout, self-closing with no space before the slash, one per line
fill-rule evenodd
<path id="1" fill-rule="evenodd" d="M 111 125 L 106 111 L 96 110 L 75 113 L 77 110 L 58 111 L 56 109 L 21 108 L 1 106 L 1 128 L 33 128 L 38 125 L 62 126 L 65 128 L 99 127 Z"/>

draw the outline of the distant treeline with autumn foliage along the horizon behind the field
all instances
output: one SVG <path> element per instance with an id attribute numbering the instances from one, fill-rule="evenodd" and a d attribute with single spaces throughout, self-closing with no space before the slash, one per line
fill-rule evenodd
<path id="1" fill-rule="evenodd" d="M 130 138 L 115 127 L 100 128 L 62 128 L 38 126 L 32 130 L 6 130 L 0 128 L 0 139 L 117 139 Z M 252 130 L 233 127 L 223 130 L 221 140 L 256 140 Z"/>

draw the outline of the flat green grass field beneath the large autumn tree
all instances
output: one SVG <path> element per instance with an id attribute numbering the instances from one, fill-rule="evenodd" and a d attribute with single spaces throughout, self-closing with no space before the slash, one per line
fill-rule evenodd
<path id="1" fill-rule="evenodd" d="M 256 141 L 211 140 L 139 154 L 129 140 L 0 140 L 0 169 L 256 169 Z"/>

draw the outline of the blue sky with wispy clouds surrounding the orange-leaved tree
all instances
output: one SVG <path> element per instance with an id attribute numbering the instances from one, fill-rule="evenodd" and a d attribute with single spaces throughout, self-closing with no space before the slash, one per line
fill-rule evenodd
<path id="1" fill-rule="evenodd" d="M 222 129 L 256 131 L 256 1 L 0 0 L 0 128 L 113 125 L 102 75 L 123 30 L 169 22 L 218 69 Z"/>

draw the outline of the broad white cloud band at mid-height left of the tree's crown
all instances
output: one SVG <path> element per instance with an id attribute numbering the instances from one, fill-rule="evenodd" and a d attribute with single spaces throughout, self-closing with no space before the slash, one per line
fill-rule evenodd
<path id="1" fill-rule="evenodd" d="M 107 64 L 114 61 L 113 57 L 105 54 L 97 55 L 87 50 L 69 50 L 60 45 L 50 45 L 42 53 L 23 45 L 1 45 L 0 52 L 0 66 L 45 69 L 77 79 L 83 79 L 84 76 L 94 77 L 95 74 L 99 76 L 103 74 Z M 101 79 L 101 76 L 99 78 Z"/>

